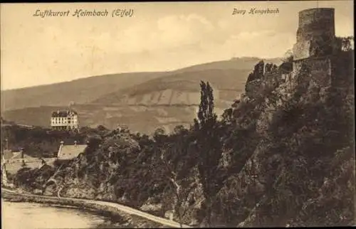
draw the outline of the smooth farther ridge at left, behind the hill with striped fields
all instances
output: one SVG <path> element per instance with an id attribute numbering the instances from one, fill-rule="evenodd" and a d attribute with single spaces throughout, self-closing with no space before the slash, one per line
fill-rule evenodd
<path id="1" fill-rule="evenodd" d="M 1 112 L 41 105 L 68 105 L 70 101 L 86 103 L 109 92 L 130 87 L 164 75 L 157 73 L 119 73 L 80 78 L 51 85 L 38 85 L 1 91 Z"/>

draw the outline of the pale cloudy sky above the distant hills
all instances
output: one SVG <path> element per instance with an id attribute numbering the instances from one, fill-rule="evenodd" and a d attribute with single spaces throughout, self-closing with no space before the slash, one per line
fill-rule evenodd
<path id="1" fill-rule="evenodd" d="M 337 36 L 353 35 L 353 1 L 206 1 L 1 4 L 1 90 L 110 73 L 176 70 L 235 57 L 281 57 L 298 12 L 335 8 Z M 234 9 L 278 14 L 232 15 Z M 109 12 L 75 17 L 76 9 Z M 112 17 L 132 9 L 132 17 Z M 70 11 L 37 17 L 36 10 Z"/>

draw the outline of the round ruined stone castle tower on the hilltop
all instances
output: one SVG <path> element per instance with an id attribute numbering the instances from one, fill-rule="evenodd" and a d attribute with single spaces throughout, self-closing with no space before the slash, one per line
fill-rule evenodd
<path id="1" fill-rule="evenodd" d="M 313 78 L 322 78 L 324 75 L 325 78 L 321 81 L 330 79 L 327 76 L 331 75 L 330 55 L 335 52 L 335 40 L 335 9 L 314 8 L 300 11 L 297 42 L 293 46 L 292 78 L 295 78 L 302 63 L 305 63 L 310 66 Z"/>

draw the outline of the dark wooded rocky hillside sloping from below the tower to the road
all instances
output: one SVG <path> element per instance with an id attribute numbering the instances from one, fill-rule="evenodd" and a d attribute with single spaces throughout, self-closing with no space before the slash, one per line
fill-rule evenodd
<path id="1" fill-rule="evenodd" d="M 153 137 L 103 130 L 78 158 L 48 173 L 22 169 L 14 182 L 195 226 L 354 225 L 353 51 L 337 53 L 333 66 L 322 84 L 308 65 L 286 82 L 260 62 L 221 119 L 211 85 L 200 82 L 189 128 Z"/>

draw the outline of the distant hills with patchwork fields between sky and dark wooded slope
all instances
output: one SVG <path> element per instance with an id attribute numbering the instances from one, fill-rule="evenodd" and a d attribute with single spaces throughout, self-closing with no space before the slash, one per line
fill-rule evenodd
<path id="1" fill-rule="evenodd" d="M 132 131 L 146 133 L 157 127 L 169 130 L 194 119 L 200 99 L 200 80 L 211 83 L 219 114 L 244 91 L 248 73 L 260 60 L 231 58 L 171 72 L 100 75 L 5 90 L 1 91 L 1 111 L 9 121 L 48 127 L 51 112 L 73 101 L 81 127 L 114 128 L 125 124 Z M 265 62 L 278 65 L 281 60 Z"/>

